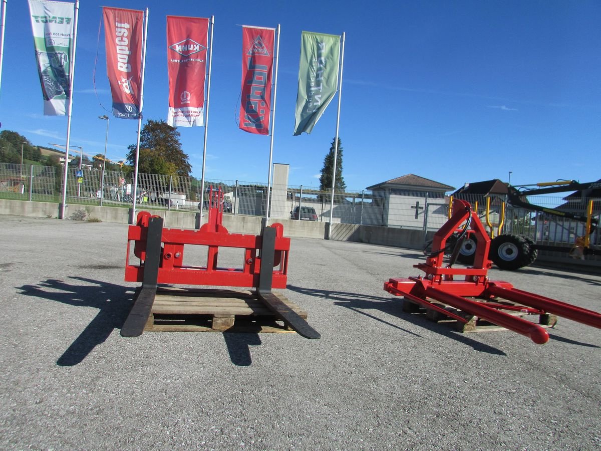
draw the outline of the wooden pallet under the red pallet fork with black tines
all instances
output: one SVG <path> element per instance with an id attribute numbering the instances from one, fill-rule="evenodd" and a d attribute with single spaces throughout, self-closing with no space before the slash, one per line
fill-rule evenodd
<path id="1" fill-rule="evenodd" d="M 274 292 L 301 318 L 307 312 Z M 144 328 L 153 332 L 260 332 L 294 333 L 250 290 L 157 288 Z"/>

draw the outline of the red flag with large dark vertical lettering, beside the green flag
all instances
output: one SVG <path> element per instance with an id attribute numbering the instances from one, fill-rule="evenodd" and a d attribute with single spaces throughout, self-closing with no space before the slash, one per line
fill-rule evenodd
<path id="1" fill-rule="evenodd" d="M 274 28 L 242 27 L 240 128 L 269 135 Z"/>

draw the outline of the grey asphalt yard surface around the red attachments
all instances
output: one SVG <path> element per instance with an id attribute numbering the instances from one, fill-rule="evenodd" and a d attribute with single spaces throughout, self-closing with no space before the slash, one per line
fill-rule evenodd
<path id="1" fill-rule="evenodd" d="M 416 251 L 293 239 L 284 293 L 320 340 L 126 339 L 126 225 L 0 227 L 1 449 L 601 449 L 601 331 L 560 319 L 535 345 L 403 313 L 382 285 Z M 601 275 L 489 275 L 601 311 Z"/>

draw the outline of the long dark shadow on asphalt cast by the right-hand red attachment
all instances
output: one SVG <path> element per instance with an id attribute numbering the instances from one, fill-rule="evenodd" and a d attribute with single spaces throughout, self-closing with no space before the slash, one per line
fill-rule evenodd
<path id="1" fill-rule="evenodd" d="M 392 324 L 391 322 L 385 321 L 381 318 L 377 318 L 376 316 L 367 313 L 367 311 L 365 310 L 382 311 L 383 313 L 395 316 L 396 318 L 403 319 L 404 321 L 410 322 L 411 324 L 414 324 L 421 328 L 440 334 L 444 337 L 456 340 L 457 342 L 462 343 L 463 345 L 470 346 L 478 352 L 486 352 L 487 354 L 495 355 L 507 355 L 505 354 L 505 352 L 501 351 L 501 349 L 497 349 L 493 346 L 477 342 L 476 340 L 472 340 L 471 338 L 466 337 L 463 333 L 450 329 L 450 326 L 448 324 L 439 324 L 430 321 L 429 319 L 426 319 L 426 316 L 423 314 L 404 312 L 403 301 L 398 298 L 395 299 L 385 296 L 367 296 L 358 293 L 349 293 L 341 291 L 307 289 L 291 285 L 288 285 L 287 288 L 289 290 L 295 291 L 297 293 L 302 293 L 307 296 L 313 296 L 315 298 L 322 298 L 334 301 L 334 305 L 349 308 L 350 310 L 356 311 L 357 313 L 367 316 L 368 318 L 371 318 L 374 321 L 382 322 L 383 324 L 397 328 L 415 337 L 424 338 L 423 336 L 416 334 L 406 328 L 400 327 L 396 324 Z"/>

